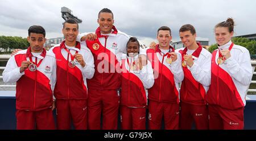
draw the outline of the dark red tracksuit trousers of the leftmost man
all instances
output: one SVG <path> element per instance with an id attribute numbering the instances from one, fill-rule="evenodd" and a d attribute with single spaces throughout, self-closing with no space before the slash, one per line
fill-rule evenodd
<path id="1" fill-rule="evenodd" d="M 40 111 L 16 110 L 16 128 L 18 130 L 54 130 L 55 122 L 51 108 Z"/>

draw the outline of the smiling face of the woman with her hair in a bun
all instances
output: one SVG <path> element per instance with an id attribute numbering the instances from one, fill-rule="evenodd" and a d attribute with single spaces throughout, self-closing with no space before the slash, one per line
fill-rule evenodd
<path id="1" fill-rule="evenodd" d="M 233 37 L 233 31 L 229 32 L 228 27 L 216 27 L 215 30 L 215 40 L 218 45 L 224 45 L 228 43 Z"/>

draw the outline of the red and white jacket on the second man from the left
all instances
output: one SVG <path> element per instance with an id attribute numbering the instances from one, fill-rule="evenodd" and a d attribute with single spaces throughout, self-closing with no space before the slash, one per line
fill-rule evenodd
<path id="1" fill-rule="evenodd" d="M 80 63 L 71 68 L 68 66 L 71 56 L 65 51 L 65 40 L 59 47 L 52 47 L 49 51 L 53 52 L 56 57 L 57 80 L 54 89 L 54 96 L 57 99 L 87 99 L 86 79 L 90 79 L 94 74 L 93 56 L 85 45 L 76 43 L 76 47 L 69 48 L 72 55 L 79 53 L 85 61 L 85 67 L 82 68 Z"/>

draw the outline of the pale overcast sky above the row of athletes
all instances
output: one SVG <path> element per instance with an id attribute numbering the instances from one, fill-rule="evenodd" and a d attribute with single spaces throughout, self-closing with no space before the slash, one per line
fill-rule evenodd
<path id="1" fill-rule="evenodd" d="M 214 26 L 232 17 L 235 35 L 256 33 L 255 0 L 0 0 L 0 35 L 27 37 L 27 29 L 38 24 L 46 29 L 46 38 L 62 36 L 61 7 L 68 7 L 82 19 L 80 32 L 94 32 L 98 11 L 107 7 L 114 13 L 114 25 L 148 45 L 156 38 L 160 26 L 172 30 L 173 41 L 179 41 L 179 28 L 192 24 L 197 36 L 214 44 Z"/>

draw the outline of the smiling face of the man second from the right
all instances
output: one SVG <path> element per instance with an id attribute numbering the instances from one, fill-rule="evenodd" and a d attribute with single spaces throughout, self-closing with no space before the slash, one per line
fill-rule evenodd
<path id="1" fill-rule="evenodd" d="M 185 47 L 191 47 L 196 42 L 196 34 L 192 35 L 191 31 L 180 32 L 180 40 Z"/>

